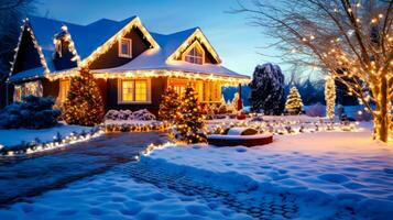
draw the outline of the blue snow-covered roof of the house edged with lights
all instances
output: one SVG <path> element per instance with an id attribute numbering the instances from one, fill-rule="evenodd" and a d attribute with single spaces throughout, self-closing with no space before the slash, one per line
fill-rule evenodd
<path id="1" fill-rule="evenodd" d="M 29 24 L 35 35 L 37 44 L 42 47 L 42 52 L 46 59 L 51 75 L 55 75 L 58 74 L 58 70 L 55 69 L 55 65 L 53 64 L 53 54 L 55 50 L 53 40 L 55 35 L 62 31 L 63 25 L 67 26 L 68 33 L 70 34 L 72 40 L 75 44 L 77 55 L 80 57 L 81 61 L 84 61 L 134 19 L 139 20 L 137 16 L 131 16 L 122 21 L 101 19 L 87 25 L 79 25 L 52 19 L 31 16 L 29 18 Z M 174 70 L 212 74 L 237 78 L 249 78 L 248 76 L 237 74 L 221 66 L 220 64 L 197 65 L 182 61 L 170 61 L 168 57 L 173 55 L 177 50 L 179 50 L 182 45 L 188 40 L 188 37 L 196 33 L 203 35 L 199 28 L 194 28 L 168 35 L 159 33 L 148 33 L 148 35 L 151 34 L 153 41 L 155 41 L 159 46 L 149 48 L 148 51 L 122 66 L 109 69 L 95 69 L 94 73 Z M 219 57 L 217 56 L 215 51 L 214 54 L 216 55 L 215 58 L 219 61 Z M 22 73 L 15 74 L 13 79 L 20 78 L 19 76 L 17 76 L 20 74 Z M 42 74 L 40 76 L 42 76 Z M 31 77 L 35 76 L 32 75 Z"/>

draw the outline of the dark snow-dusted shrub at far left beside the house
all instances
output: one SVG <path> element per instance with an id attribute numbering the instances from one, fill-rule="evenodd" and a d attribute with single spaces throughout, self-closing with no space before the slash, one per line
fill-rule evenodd
<path id="1" fill-rule="evenodd" d="M 0 112 L 0 128 L 4 129 L 45 129 L 57 124 L 59 110 L 54 110 L 54 100 L 35 96 L 22 98 Z"/>

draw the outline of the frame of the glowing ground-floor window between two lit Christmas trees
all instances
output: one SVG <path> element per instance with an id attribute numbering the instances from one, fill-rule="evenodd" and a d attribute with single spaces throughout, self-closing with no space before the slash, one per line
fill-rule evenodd
<path id="1" fill-rule="evenodd" d="M 137 101 L 137 87 L 135 81 L 145 80 L 146 81 L 146 100 L 145 101 Z M 123 81 L 132 81 L 132 101 L 123 100 Z M 119 105 L 150 105 L 152 103 L 152 88 L 151 88 L 151 78 L 130 78 L 130 79 L 118 79 L 118 103 Z"/>

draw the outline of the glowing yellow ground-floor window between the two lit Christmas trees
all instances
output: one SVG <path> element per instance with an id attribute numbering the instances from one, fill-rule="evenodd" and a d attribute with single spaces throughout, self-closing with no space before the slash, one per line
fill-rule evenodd
<path id="1" fill-rule="evenodd" d="M 119 102 L 150 102 L 150 79 L 120 80 Z"/>

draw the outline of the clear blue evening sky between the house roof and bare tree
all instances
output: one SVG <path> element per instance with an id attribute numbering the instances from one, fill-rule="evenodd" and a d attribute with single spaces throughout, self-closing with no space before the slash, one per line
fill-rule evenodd
<path id="1" fill-rule="evenodd" d="M 36 13 L 79 24 L 138 15 L 150 31 L 163 34 L 199 26 L 225 66 L 252 75 L 255 65 L 268 62 L 258 47 L 269 40 L 260 28 L 247 23 L 247 14 L 228 13 L 236 7 L 236 0 L 51 0 L 39 3 Z"/>

